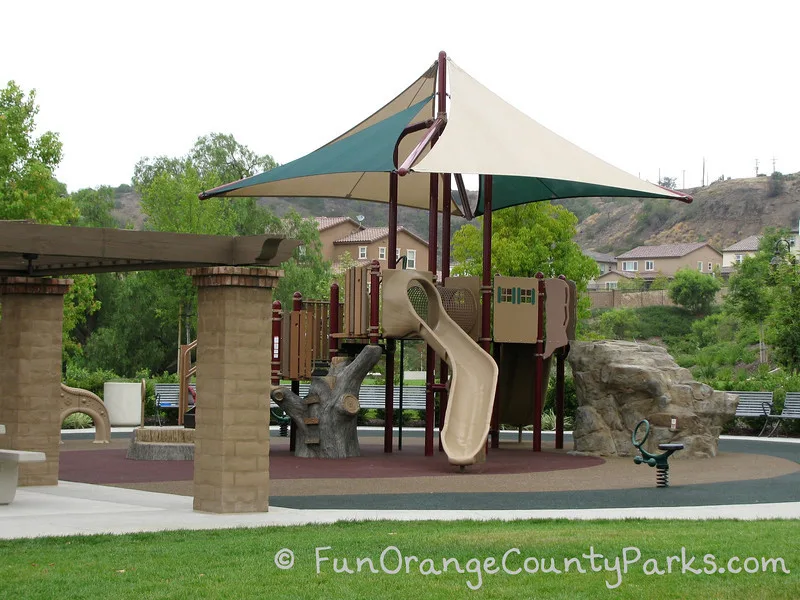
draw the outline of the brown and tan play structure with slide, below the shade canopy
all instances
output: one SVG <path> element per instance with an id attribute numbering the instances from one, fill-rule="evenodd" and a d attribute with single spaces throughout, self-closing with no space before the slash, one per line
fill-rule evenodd
<path id="1" fill-rule="evenodd" d="M 495 277 L 490 296 L 495 299 L 494 358 L 477 343 L 478 278 L 453 277 L 437 286 L 430 272 L 381 271 L 374 261 L 348 269 L 343 287 L 344 302 L 335 283 L 327 303 L 304 303 L 299 294 L 292 311 L 282 312 L 280 303 L 273 303 L 274 385 L 288 378 L 296 396 L 299 381 L 310 378 L 315 368 L 324 371 L 332 357 L 382 345 L 387 360 L 384 450 L 390 452 L 395 393 L 392 348 L 396 340 L 424 340 L 431 349 L 429 355 L 435 352 L 443 359 L 440 382 L 426 386 L 425 454 L 433 454 L 434 394 L 439 394 L 440 449 L 451 464 L 465 466 L 482 460 L 490 426 L 497 424 L 494 435 L 498 436 L 501 419 L 519 428 L 533 425 L 533 449 L 541 450 L 541 411 L 550 357 L 559 351 L 557 447 L 563 447 L 563 361 L 574 338 L 573 282 L 541 276 Z M 499 387 L 498 381 L 503 382 Z M 536 381 L 541 384 L 534 385 Z M 294 438 L 291 449 L 295 450 Z"/>

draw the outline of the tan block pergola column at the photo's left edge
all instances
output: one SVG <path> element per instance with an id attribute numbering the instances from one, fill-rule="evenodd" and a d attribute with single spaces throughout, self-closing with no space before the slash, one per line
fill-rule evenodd
<path id="1" fill-rule="evenodd" d="M 19 485 L 58 485 L 61 329 L 71 279 L 0 277 L 0 447 L 44 452 Z"/>

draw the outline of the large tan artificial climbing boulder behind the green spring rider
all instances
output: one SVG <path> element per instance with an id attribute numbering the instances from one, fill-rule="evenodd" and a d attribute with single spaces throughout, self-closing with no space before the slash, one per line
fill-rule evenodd
<path id="1" fill-rule="evenodd" d="M 681 443 L 674 458 L 716 456 L 719 434 L 736 412 L 737 397 L 694 381 L 664 348 L 622 341 L 575 342 L 569 354 L 578 410 L 573 438 L 577 452 L 631 456 L 631 434 L 650 422 L 644 448 Z M 672 419 L 677 427 L 671 429 Z M 639 430 L 639 438 L 644 427 Z"/>

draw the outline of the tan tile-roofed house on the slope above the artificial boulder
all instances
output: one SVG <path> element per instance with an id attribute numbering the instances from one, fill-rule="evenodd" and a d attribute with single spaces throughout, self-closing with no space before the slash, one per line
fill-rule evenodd
<path id="1" fill-rule="evenodd" d="M 678 270 L 713 274 L 722 268 L 722 253 L 705 242 L 638 246 L 616 257 L 616 268 L 597 278 L 601 289 L 614 289 L 622 279 L 641 277 L 645 284 L 659 276 L 671 279 Z"/>

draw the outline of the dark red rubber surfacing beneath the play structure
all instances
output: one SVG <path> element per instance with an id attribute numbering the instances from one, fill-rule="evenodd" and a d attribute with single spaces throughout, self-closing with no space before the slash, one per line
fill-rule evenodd
<path id="1" fill-rule="evenodd" d="M 62 452 L 59 479 L 95 484 L 191 481 L 193 461 L 139 461 L 125 458 L 127 450 L 73 450 Z M 571 456 L 561 452 L 496 449 L 485 463 L 466 468 L 467 473 L 509 475 L 564 469 L 582 469 L 604 462 L 602 458 Z M 449 477 L 459 475 L 447 456 L 425 457 L 419 447 L 391 454 L 379 444 L 362 444 L 361 456 L 342 460 L 297 458 L 285 449 L 270 453 L 271 479 L 362 479 L 373 477 Z"/>

